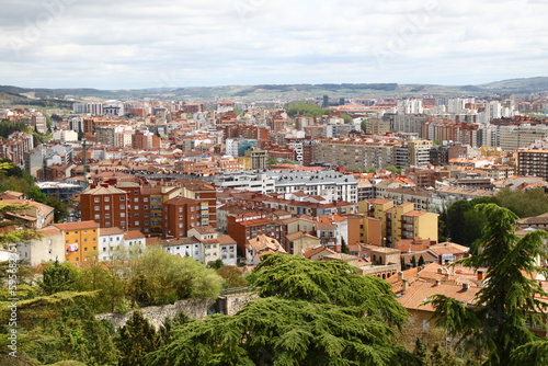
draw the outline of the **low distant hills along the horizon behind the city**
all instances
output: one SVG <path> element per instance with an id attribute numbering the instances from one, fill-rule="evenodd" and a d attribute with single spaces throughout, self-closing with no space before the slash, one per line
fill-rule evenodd
<path id="1" fill-rule="evenodd" d="M 548 77 L 509 79 L 479 85 L 436 85 L 398 83 L 321 83 L 321 84 L 258 84 L 191 88 L 150 88 L 134 90 L 99 90 L 91 88 L 46 89 L 0 85 L 0 92 L 8 95 L 34 93 L 36 99 L 75 100 L 95 98 L 100 100 L 119 99 L 199 99 L 199 100 L 295 100 L 306 98 L 359 98 L 359 96 L 412 96 L 412 95 L 477 95 L 548 92 Z M 3 100 L 3 99 L 0 99 Z"/>

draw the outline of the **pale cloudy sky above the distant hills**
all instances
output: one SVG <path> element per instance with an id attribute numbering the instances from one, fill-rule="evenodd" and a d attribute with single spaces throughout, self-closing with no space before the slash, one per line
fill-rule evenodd
<path id="1" fill-rule="evenodd" d="M 546 0 L 0 0 L 0 84 L 481 84 L 548 76 Z"/>

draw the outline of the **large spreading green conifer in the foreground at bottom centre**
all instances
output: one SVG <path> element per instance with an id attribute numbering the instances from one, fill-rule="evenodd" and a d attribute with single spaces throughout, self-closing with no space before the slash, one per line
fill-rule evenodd
<path id="1" fill-rule="evenodd" d="M 147 365 L 419 364 L 393 345 L 407 317 L 383 279 L 344 262 L 267 255 L 251 284 L 260 298 L 176 329 Z"/>

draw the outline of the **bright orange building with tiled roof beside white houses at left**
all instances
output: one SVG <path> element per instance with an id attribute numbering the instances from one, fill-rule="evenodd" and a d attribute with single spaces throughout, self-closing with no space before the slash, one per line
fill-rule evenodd
<path id="1" fill-rule="evenodd" d="M 55 224 L 62 233 L 65 260 L 76 265 L 98 260 L 99 225 L 95 221 Z"/>

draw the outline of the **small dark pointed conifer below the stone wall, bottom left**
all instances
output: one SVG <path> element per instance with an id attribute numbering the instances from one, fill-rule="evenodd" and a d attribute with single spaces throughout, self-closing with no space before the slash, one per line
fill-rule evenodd
<path id="1" fill-rule="evenodd" d="M 158 348 L 160 339 L 155 328 L 136 310 L 119 330 L 115 344 L 119 351 L 119 366 L 140 366 L 147 354 Z"/>

